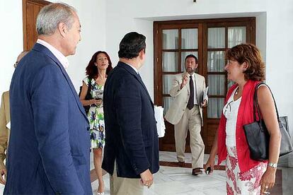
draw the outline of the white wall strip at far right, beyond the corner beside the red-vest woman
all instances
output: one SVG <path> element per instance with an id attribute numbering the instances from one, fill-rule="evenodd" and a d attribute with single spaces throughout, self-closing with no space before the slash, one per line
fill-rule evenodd
<path id="1" fill-rule="evenodd" d="M 293 1 L 269 1 L 267 23 L 267 81 L 280 115 L 293 130 Z"/>

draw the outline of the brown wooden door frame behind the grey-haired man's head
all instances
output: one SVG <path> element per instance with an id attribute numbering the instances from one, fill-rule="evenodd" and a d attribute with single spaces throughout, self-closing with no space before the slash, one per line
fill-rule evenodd
<path id="1" fill-rule="evenodd" d="M 26 11 L 27 11 L 27 4 L 35 4 L 38 6 L 47 6 L 52 4 L 49 1 L 44 0 L 23 0 L 23 50 L 28 50 L 28 40 L 27 40 L 27 18 L 26 18 Z"/>

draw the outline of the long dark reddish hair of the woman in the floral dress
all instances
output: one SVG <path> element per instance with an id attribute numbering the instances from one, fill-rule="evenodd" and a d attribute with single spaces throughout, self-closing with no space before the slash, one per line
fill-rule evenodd
<path id="1" fill-rule="evenodd" d="M 93 57 L 91 57 L 91 60 L 88 62 L 88 66 L 86 66 L 86 75 L 90 78 L 95 78 L 95 79 L 98 78 L 98 68 L 95 65 L 95 62 L 97 61 L 98 54 L 105 54 L 105 56 L 108 59 L 109 66 L 106 70 L 106 75 L 108 75 L 108 73 L 113 69 L 112 62 L 111 62 L 110 57 L 107 54 L 107 52 L 98 51 L 95 54 L 93 54 Z"/>

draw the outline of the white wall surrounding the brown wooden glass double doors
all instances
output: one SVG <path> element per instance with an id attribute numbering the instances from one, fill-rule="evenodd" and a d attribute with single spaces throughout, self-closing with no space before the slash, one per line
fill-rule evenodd
<path id="1" fill-rule="evenodd" d="M 289 116 L 293 128 L 293 1 L 273 0 L 107 0 L 106 50 L 117 61 L 117 47 L 125 33 L 146 35 L 148 60 L 140 73 L 150 95 L 154 95 L 154 20 L 256 17 L 256 45 L 265 58 L 267 83 L 277 100 L 280 115 Z"/>

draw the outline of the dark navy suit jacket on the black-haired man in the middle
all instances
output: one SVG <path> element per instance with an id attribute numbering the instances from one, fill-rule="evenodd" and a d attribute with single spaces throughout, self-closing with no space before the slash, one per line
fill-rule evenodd
<path id="1" fill-rule="evenodd" d="M 105 151 L 103 169 L 117 176 L 140 178 L 149 169 L 159 170 L 158 133 L 154 104 L 142 78 L 119 62 L 108 75 L 103 97 Z"/>

